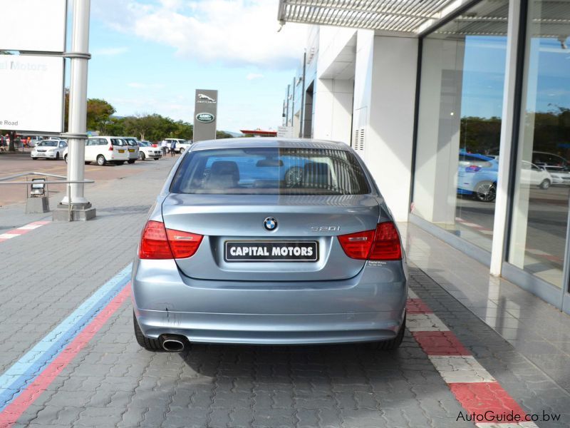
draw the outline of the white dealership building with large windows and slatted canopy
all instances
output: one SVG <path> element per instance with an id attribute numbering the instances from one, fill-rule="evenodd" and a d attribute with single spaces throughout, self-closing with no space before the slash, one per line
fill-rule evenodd
<path id="1" fill-rule="evenodd" d="M 398 221 L 570 313 L 570 1 L 281 0 L 279 20 L 309 24 L 284 125 L 351 145 Z"/>

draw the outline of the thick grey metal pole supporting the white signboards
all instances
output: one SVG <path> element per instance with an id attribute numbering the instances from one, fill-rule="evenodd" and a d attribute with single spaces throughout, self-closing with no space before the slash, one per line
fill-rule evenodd
<path id="1" fill-rule="evenodd" d="M 73 34 L 71 51 L 88 54 L 89 50 L 89 16 L 90 0 L 73 1 Z M 87 68 L 88 58 L 74 56 L 71 58 L 71 86 L 69 88 L 69 129 L 71 138 L 68 141 L 69 163 L 68 180 L 83 181 L 85 177 L 85 140 L 87 138 Z M 85 136 L 81 138 L 80 136 Z M 69 198 L 61 203 L 67 204 L 70 199 L 73 205 L 87 205 L 83 196 L 83 184 L 71 185 Z M 71 204 L 69 204 L 71 207 Z"/>

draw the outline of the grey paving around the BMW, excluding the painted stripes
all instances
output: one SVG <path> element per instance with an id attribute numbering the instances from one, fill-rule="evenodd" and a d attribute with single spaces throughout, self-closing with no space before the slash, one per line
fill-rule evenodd
<path id="1" fill-rule="evenodd" d="M 2 244 L 2 371 L 130 262 L 169 168 L 152 163 L 144 174 L 93 190 L 95 221 L 53 223 Z M 31 267 L 29 260 L 46 254 L 55 262 Z M 413 266 L 410 287 L 450 330 L 435 341 L 456 350 L 446 376 L 492 377 L 525 412 L 561 413 L 560 423 L 540 427 L 569 426 L 569 394 L 553 379 Z M 410 325 L 430 322 L 416 317 Z M 394 352 L 193 345 L 181 354 L 152 353 L 135 342 L 125 303 L 15 427 L 473 427 L 456 420 L 463 407 L 412 335 L 407 331 Z M 468 398 L 473 389 L 465 388 Z"/>

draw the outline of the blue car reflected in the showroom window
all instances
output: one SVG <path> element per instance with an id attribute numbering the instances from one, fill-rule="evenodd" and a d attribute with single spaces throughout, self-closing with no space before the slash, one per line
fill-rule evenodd
<path id="1" fill-rule="evenodd" d="M 457 166 L 457 193 L 471 195 L 482 202 L 497 196 L 497 159 L 476 153 L 460 152 Z"/>

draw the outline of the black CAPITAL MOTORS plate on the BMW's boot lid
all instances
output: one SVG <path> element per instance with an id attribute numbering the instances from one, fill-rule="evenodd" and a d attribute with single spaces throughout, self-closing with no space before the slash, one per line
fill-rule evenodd
<path id="1" fill-rule="evenodd" d="M 316 262 L 316 241 L 226 241 L 227 262 Z"/>

